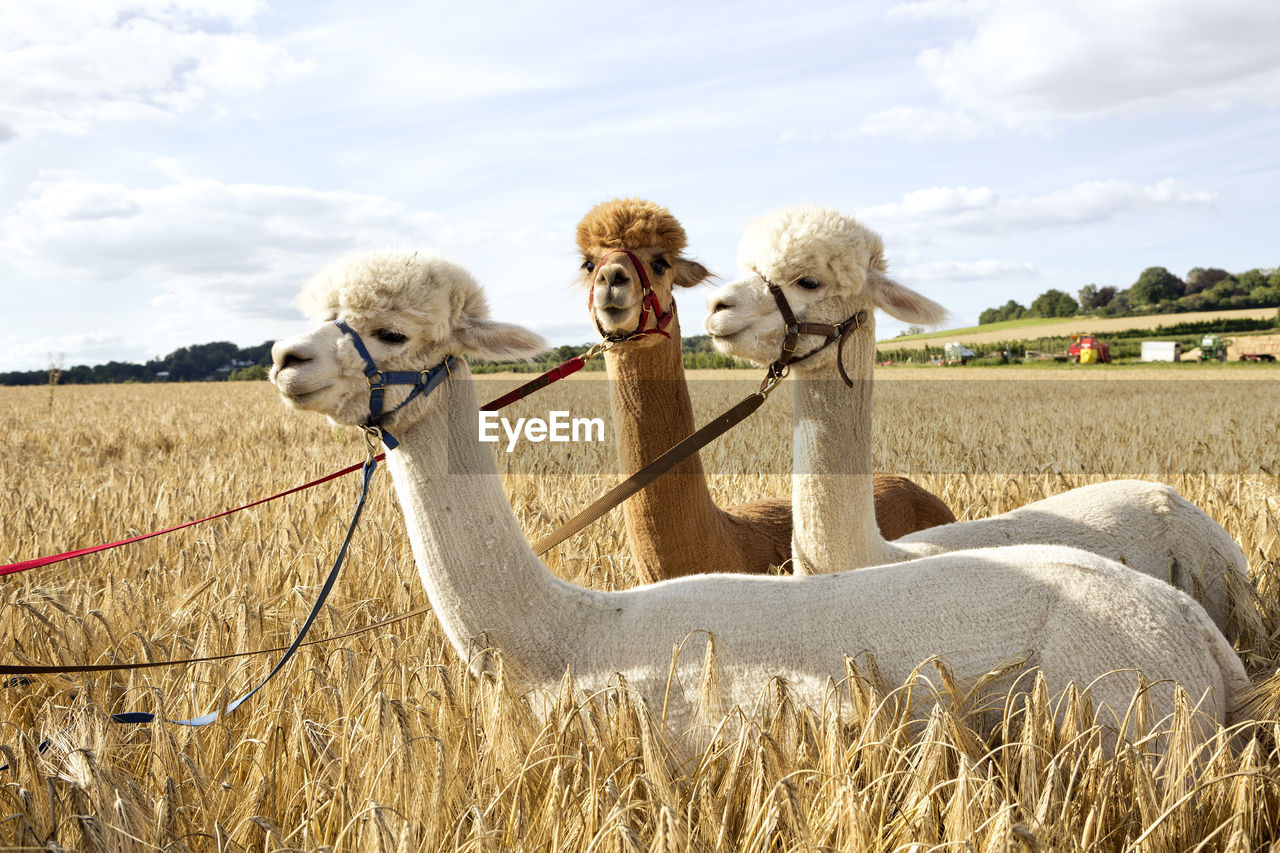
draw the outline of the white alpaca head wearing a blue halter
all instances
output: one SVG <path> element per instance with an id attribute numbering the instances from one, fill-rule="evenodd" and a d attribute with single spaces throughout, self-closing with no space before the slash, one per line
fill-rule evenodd
<path id="1" fill-rule="evenodd" d="M 271 347 L 271 382 L 296 409 L 328 415 L 339 425 L 369 416 L 365 362 L 351 327 L 381 371 L 428 370 L 447 356 L 524 359 L 545 348 L 526 329 L 489 319 L 484 291 L 471 274 L 443 257 L 412 251 L 349 255 L 307 282 L 298 306 L 316 325 Z M 398 406 L 410 386 L 388 386 L 384 411 Z M 415 400 L 388 426 L 415 418 L 430 400 Z"/>

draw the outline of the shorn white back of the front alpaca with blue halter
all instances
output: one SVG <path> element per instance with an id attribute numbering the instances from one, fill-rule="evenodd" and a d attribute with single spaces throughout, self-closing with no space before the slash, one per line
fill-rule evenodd
<path id="1" fill-rule="evenodd" d="M 846 658 L 865 653 L 887 689 L 929 676 L 933 658 L 969 683 L 1019 662 L 987 684 L 996 695 L 988 707 L 1000 706 L 1021 669 L 1038 667 L 1053 692 L 1092 685 L 1100 720 L 1115 727 L 1142 678 L 1156 720 L 1172 712 L 1175 685 L 1216 724 L 1248 686 L 1199 605 L 1076 548 L 986 548 L 794 579 L 698 575 L 609 602 L 616 616 L 602 633 L 577 638 L 580 685 L 604 686 L 622 674 L 675 733 L 708 708 L 714 717 L 756 707 L 771 683 L 822 708 L 847 678 Z M 920 713 L 928 694 L 918 693 Z"/>

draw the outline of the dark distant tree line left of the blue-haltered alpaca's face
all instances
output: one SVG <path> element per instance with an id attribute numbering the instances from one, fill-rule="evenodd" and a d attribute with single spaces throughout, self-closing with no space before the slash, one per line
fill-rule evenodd
<path id="1" fill-rule="evenodd" d="M 106 364 L 54 370 L 14 370 L 0 373 L 0 386 L 100 384 L 111 382 L 212 382 L 221 379 L 265 379 L 271 365 L 271 345 L 238 347 L 228 341 L 197 343 L 174 350 L 146 364 L 108 361 Z"/>

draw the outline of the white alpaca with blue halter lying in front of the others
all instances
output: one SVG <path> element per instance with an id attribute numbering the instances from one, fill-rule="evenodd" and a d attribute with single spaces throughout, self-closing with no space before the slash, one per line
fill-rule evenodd
<path id="1" fill-rule="evenodd" d="M 289 403 L 337 424 L 362 424 L 369 392 L 355 338 L 333 320 L 361 336 L 381 370 L 543 347 L 530 332 L 490 321 L 471 275 L 436 257 L 349 257 L 312 279 L 301 302 L 320 325 L 275 345 L 271 380 Z M 390 387 L 387 409 L 406 394 Z M 465 362 L 384 425 L 401 442 L 387 461 L 435 617 L 460 656 L 483 667 L 484 656 L 472 653 L 499 651 L 535 697 L 554 694 L 566 671 L 593 690 L 621 674 L 680 733 L 698 719 L 703 670 L 701 649 L 689 644 L 707 638 L 719 667 L 709 698 L 724 712 L 750 710 L 773 678 L 799 702 L 822 706 L 831 683 L 845 678 L 845 656 L 864 651 L 893 683 L 933 656 L 960 675 L 1027 656 L 1052 689 L 1123 670 L 1093 685 L 1096 707 L 1111 715 L 1129 704 L 1134 670 L 1161 681 L 1151 693 L 1160 715 L 1172 710 L 1171 681 L 1217 722 L 1248 686 L 1230 646 L 1190 598 L 1074 548 L 991 548 L 818 578 L 694 575 L 622 592 L 584 589 L 552 575 L 525 542 L 490 448 L 477 441 Z M 762 630 L 762 620 L 791 630 Z M 684 640 L 668 684 L 672 649 Z"/>

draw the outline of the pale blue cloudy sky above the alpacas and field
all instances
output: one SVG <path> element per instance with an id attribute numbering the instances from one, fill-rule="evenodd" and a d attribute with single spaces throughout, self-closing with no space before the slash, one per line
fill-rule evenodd
<path id="1" fill-rule="evenodd" d="M 1277 36 L 1257 0 L 0 3 L 0 371 L 287 337 L 378 247 L 588 342 L 573 229 L 623 196 L 722 282 L 754 216 L 852 214 L 950 327 L 1274 268 Z"/>

